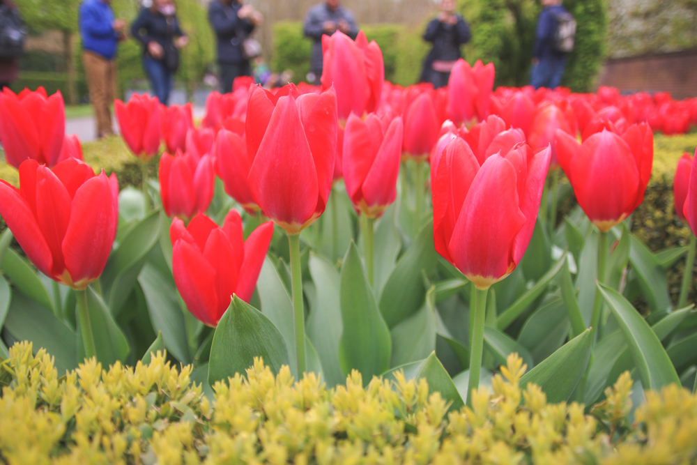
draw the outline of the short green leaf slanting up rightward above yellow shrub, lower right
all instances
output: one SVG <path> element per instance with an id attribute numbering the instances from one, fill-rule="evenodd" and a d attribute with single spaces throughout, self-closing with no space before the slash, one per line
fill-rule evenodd
<path id="1" fill-rule="evenodd" d="M 521 389 L 528 383 L 535 383 L 547 395 L 547 402 L 557 403 L 569 400 L 576 385 L 581 381 L 590 360 L 592 333 L 585 330 L 574 337 L 555 353 L 542 360 L 539 365 L 523 375 Z"/>

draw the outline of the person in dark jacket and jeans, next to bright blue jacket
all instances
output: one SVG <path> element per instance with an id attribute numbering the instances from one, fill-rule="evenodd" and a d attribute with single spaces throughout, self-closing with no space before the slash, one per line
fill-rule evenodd
<path id="1" fill-rule="evenodd" d="M 168 105 L 179 49 L 189 41 L 179 27 L 174 3 L 154 0 L 150 8 L 143 8 L 131 25 L 131 35 L 143 44 L 143 68 L 153 94 Z"/>

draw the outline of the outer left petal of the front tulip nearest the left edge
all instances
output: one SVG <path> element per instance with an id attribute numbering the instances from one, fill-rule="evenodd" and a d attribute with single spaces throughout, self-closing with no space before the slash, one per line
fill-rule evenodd
<path id="1" fill-rule="evenodd" d="M 0 180 L 0 216 L 20 243 L 20 247 L 41 273 L 51 276 L 53 259 L 31 207 L 20 191 Z"/>

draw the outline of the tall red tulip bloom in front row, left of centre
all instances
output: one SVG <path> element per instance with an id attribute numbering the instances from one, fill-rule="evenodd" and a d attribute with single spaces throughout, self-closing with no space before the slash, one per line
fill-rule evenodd
<path id="1" fill-rule="evenodd" d="M 336 105 L 334 89 L 298 98 L 291 93 L 275 104 L 266 93 L 250 94 L 250 189 L 263 213 L 289 234 L 298 234 L 324 212 L 334 173 Z M 273 112 L 266 119 L 268 110 Z"/>

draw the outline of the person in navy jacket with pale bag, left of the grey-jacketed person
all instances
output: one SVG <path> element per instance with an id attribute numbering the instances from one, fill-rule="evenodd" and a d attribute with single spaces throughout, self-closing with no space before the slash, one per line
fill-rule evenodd
<path id="1" fill-rule="evenodd" d="M 213 0 L 208 7 L 208 21 L 217 36 L 217 61 L 220 66 L 220 87 L 232 91 L 236 77 L 251 76 L 252 65 L 245 58 L 242 43 L 261 24 L 261 13 L 240 0 Z"/>

